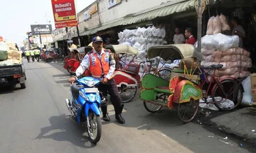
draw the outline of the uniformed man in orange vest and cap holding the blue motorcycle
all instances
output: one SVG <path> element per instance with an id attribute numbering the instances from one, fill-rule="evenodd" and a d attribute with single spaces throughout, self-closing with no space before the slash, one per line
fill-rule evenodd
<path id="1" fill-rule="evenodd" d="M 115 71 L 115 60 L 111 57 L 110 50 L 102 48 L 103 40 L 101 37 L 93 38 L 94 49 L 84 56 L 80 66 L 76 70 L 76 76 L 80 76 L 87 69 L 90 70 L 92 77 L 101 80 L 101 84 L 98 87 L 100 91 L 110 93 L 110 100 L 115 108 L 115 118 L 119 123 L 125 123 L 121 113 L 123 110 L 122 100 L 117 89 L 115 80 L 113 79 L 113 73 Z M 69 79 L 71 83 L 76 81 L 76 77 Z M 110 117 L 107 112 L 107 105 L 101 106 L 104 121 L 110 121 Z"/>

